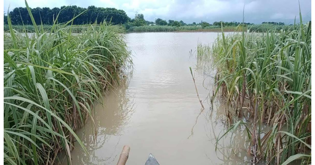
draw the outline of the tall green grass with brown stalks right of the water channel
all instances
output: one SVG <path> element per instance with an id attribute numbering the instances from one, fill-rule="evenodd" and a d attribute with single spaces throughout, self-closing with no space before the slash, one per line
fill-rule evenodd
<path id="1" fill-rule="evenodd" d="M 311 49 L 311 22 L 303 24 L 301 16 L 300 24 L 289 29 L 222 30 L 213 44 L 214 96 L 224 96 L 237 116 L 244 109 L 252 116 L 254 164 L 261 158 L 271 164 L 311 163 Z M 263 132 L 262 124 L 271 129 Z"/>

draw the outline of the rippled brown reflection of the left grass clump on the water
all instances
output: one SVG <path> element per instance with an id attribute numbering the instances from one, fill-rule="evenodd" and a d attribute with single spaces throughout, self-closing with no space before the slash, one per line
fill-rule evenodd
<path id="1" fill-rule="evenodd" d="M 107 164 L 116 159 L 117 155 L 114 155 L 114 151 L 121 150 L 117 145 L 124 126 L 128 125 L 130 117 L 135 112 L 135 96 L 128 91 L 130 77 L 121 80 L 119 86 L 104 96 L 104 106 L 96 105 L 93 115 L 95 125 L 92 121 L 88 121 L 84 128 L 77 132 L 89 155 L 84 154 L 83 150 L 75 144 L 77 148 L 72 151 L 72 163 Z M 110 146 L 110 150 L 108 154 L 103 155 L 106 146 Z"/>

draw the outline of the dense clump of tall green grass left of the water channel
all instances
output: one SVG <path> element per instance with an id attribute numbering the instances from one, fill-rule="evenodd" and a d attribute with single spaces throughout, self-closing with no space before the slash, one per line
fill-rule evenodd
<path id="1" fill-rule="evenodd" d="M 84 148 L 74 130 L 131 62 L 121 27 L 104 22 L 97 29 L 81 27 L 80 34 L 73 35 L 73 28 L 78 30 L 71 26 L 73 19 L 49 30 L 34 23 L 34 33 L 27 33 L 13 29 L 8 15 L 4 164 L 54 164 L 61 150 L 71 160 L 72 142 Z"/>

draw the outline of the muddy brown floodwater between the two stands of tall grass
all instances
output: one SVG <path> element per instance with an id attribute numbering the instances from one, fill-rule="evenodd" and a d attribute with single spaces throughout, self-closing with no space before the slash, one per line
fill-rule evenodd
<path id="1" fill-rule="evenodd" d="M 217 36 L 216 32 L 126 34 L 134 71 L 105 94 L 104 107 L 95 106 L 96 128 L 88 120 L 77 131 L 89 154 L 75 143 L 72 164 L 116 165 L 126 144 L 131 148 L 127 165 L 144 165 L 149 153 L 160 165 L 249 164 L 249 141 L 242 127 L 228 133 L 215 150 L 216 139 L 227 129 L 224 101 L 215 99 L 210 109 L 207 96 L 215 87 L 211 78 L 215 71 L 205 74 L 196 69 L 197 60 L 189 53 L 197 49 L 198 41 L 212 43 Z"/>

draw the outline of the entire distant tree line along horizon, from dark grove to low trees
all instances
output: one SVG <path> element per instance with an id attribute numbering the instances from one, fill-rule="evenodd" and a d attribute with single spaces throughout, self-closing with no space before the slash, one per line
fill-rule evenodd
<path id="1" fill-rule="evenodd" d="M 163 20 L 161 18 L 157 18 L 154 22 L 147 21 L 144 19 L 143 14 L 136 13 L 135 18 L 129 18 L 125 11 L 118 10 L 115 8 L 102 8 L 89 6 L 86 8 L 81 8 L 77 6 L 61 6 L 60 8 L 33 8 L 31 9 L 31 13 L 34 17 L 36 24 L 44 24 L 44 25 L 52 25 L 53 20 L 58 16 L 58 23 L 63 23 L 70 21 L 73 17 L 78 14 L 84 12 L 82 15 L 78 16 L 73 24 L 81 25 L 81 24 L 91 24 L 91 23 L 100 23 L 102 21 L 111 21 L 113 24 L 124 24 L 126 29 L 134 26 L 144 26 L 144 25 L 168 25 L 168 26 L 238 26 L 238 25 L 253 25 L 253 23 L 242 23 L 242 22 L 224 22 L 224 21 L 215 21 L 212 24 L 201 21 L 200 23 L 190 23 L 187 24 L 184 21 L 175 21 L 175 20 Z M 10 11 L 11 22 L 13 25 L 27 25 L 32 24 L 31 17 L 28 14 L 27 9 L 24 7 L 14 8 Z M 7 24 L 7 16 L 4 15 L 4 23 Z M 271 24 L 271 25 L 284 25 L 283 22 L 262 22 L 262 24 Z"/>

